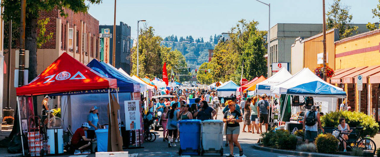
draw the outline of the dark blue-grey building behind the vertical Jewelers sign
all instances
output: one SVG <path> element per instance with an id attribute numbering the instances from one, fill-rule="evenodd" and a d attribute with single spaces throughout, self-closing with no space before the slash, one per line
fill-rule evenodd
<path id="1" fill-rule="evenodd" d="M 99 26 L 98 33 L 101 33 L 101 29 L 109 28 L 109 32 L 114 32 L 113 25 L 101 25 Z M 109 42 L 109 61 L 112 64 L 113 61 L 113 39 Z M 131 26 L 126 23 L 120 22 L 120 25 L 116 25 L 116 54 L 115 54 L 115 67 L 122 68 L 125 72 L 131 73 Z"/>

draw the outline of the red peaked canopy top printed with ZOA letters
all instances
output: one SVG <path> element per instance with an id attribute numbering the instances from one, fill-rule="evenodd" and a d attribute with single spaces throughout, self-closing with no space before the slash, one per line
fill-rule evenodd
<path id="1" fill-rule="evenodd" d="M 116 79 L 101 76 L 63 53 L 32 82 L 16 88 L 16 95 L 45 95 L 108 88 L 117 88 Z"/>

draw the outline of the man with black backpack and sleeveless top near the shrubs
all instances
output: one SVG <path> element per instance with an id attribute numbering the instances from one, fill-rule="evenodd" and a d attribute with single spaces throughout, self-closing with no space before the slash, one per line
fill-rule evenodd
<path id="1" fill-rule="evenodd" d="M 320 115 L 317 112 L 317 106 L 311 106 L 311 110 L 305 115 L 303 121 L 303 130 L 305 131 L 305 143 L 313 142 L 318 134 L 318 126 L 321 128 L 322 132 L 325 132 L 322 128 L 322 123 Z"/>

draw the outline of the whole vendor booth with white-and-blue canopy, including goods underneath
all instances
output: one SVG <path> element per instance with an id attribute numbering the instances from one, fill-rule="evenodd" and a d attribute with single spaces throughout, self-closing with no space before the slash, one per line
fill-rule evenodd
<path id="1" fill-rule="evenodd" d="M 271 92 L 280 98 L 278 120 L 285 121 L 287 129 L 290 129 L 289 123 L 301 124 L 302 115 L 304 116 L 312 105 L 317 106 L 319 112 L 335 111 L 337 99 L 346 97 L 343 89 L 323 81 L 309 68 L 303 68 L 286 81 L 271 87 Z M 298 103 L 294 103 L 294 98 L 299 98 Z"/>

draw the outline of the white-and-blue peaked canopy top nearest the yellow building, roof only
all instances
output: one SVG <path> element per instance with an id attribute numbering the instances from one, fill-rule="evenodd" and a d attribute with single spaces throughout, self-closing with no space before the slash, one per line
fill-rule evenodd
<path id="1" fill-rule="evenodd" d="M 331 85 L 313 72 L 309 68 L 303 68 L 288 80 L 275 85 L 271 92 L 276 95 L 291 94 L 315 97 L 345 98 L 343 89 Z"/>

